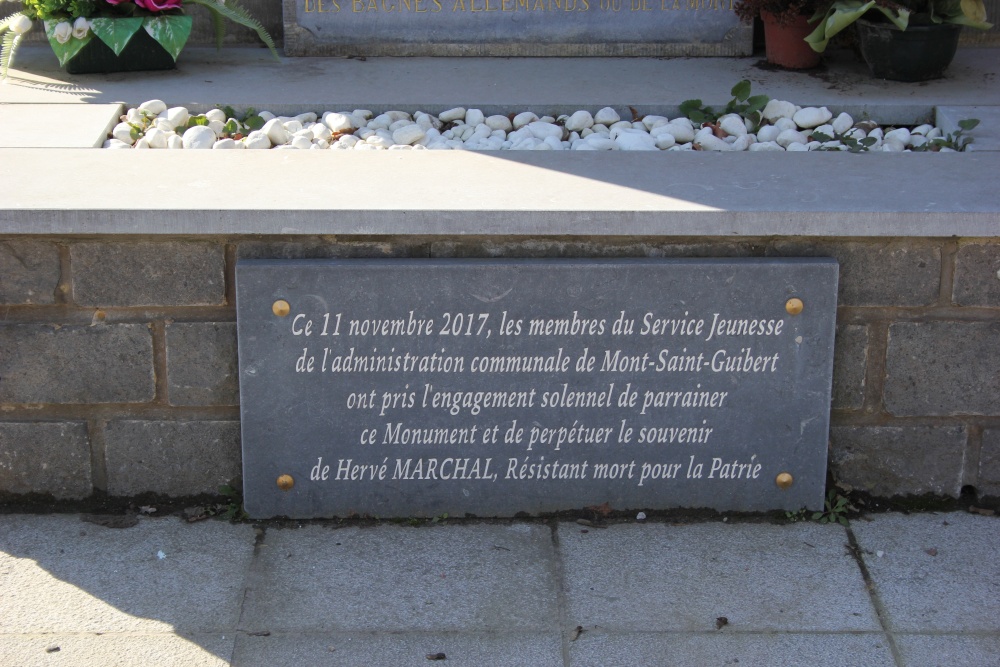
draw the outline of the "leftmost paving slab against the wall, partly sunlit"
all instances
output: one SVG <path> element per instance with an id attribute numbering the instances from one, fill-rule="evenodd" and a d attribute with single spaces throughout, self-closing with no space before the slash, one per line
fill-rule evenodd
<path id="1" fill-rule="evenodd" d="M 0 516 L 0 634 L 222 633 L 239 620 L 253 543 L 251 526 L 221 522 Z"/>

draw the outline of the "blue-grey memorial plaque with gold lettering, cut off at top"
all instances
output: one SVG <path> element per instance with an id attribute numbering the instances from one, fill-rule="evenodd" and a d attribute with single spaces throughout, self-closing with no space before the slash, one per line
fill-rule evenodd
<path id="1" fill-rule="evenodd" d="M 290 56 L 748 56 L 733 0 L 284 0 Z"/>

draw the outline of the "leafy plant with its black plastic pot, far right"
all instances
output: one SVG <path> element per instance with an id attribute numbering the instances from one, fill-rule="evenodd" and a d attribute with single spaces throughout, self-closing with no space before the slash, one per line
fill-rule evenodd
<path id="1" fill-rule="evenodd" d="M 818 53 L 856 23 L 872 74 L 894 81 L 941 77 L 955 57 L 962 26 L 992 27 L 983 0 L 833 0 L 810 21 L 818 25 L 806 41 Z"/>

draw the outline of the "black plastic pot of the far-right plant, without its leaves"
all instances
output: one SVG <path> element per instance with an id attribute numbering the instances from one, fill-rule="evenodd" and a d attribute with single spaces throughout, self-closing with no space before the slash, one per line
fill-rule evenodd
<path id="1" fill-rule="evenodd" d="M 954 23 L 910 25 L 859 19 L 861 55 L 872 75 L 891 81 L 940 79 L 958 50 L 962 26 Z"/>

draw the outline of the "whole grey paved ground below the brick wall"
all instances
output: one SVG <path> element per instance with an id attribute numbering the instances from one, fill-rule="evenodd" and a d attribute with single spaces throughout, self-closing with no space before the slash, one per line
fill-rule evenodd
<path id="1" fill-rule="evenodd" d="M 0 664 L 1000 665 L 1000 519 L 0 516 Z"/>

